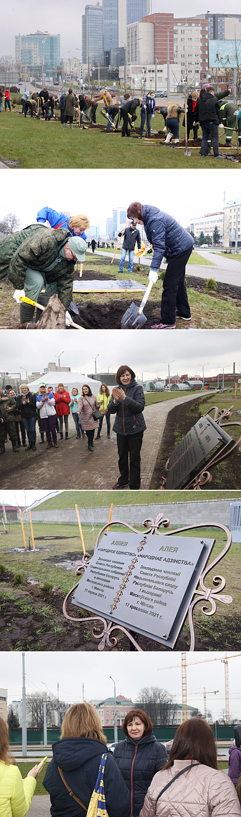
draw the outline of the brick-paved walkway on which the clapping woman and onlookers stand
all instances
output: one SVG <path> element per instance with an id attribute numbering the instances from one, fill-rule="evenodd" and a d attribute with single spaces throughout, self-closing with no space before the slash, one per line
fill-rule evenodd
<path id="1" fill-rule="evenodd" d="M 212 392 L 214 395 L 215 392 Z M 153 475 L 158 449 L 163 437 L 167 414 L 176 405 L 203 396 L 194 394 L 180 395 L 173 400 L 146 406 L 144 410 L 147 430 L 144 432 L 141 449 L 141 489 L 149 489 Z M 107 439 L 107 426 L 104 418 L 100 440 L 95 441 L 94 452 L 87 449 L 87 437 L 76 440 L 76 430 L 72 417 L 69 418 L 69 440 L 61 440 L 57 435 L 59 449 L 46 450 L 47 443 L 39 445 L 40 435 L 37 431 L 37 451 L 25 452 L 19 449 L 18 455 L 12 452 L 11 443 L 6 444 L 6 454 L 1 459 L 2 489 L 90 489 L 109 490 L 118 479 L 118 452 L 116 434 L 112 431 L 114 415 L 111 415 L 110 440 Z M 74 427 L 73 427 L 74 426 Z M 38 426 L 37 426 L 38 428 Z"/>

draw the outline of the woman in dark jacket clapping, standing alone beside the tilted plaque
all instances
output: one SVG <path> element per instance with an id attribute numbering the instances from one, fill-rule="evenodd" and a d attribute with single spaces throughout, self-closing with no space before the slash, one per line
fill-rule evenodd
<path id="1" fill-rule="evenodd" d="M 146 429 L 142 414 L 145 396 L 135 377 L 132 368 L 119 366 L 115 375 L 118 388 L 113 389 L 108 406 L 110 414 L 116 413 L 113 431 L 117 435 L 120 476 L 113 485 L 114 490 L 123 488 L 123 485 L 129 485 L 130 490 L 141 487 L 141 445 Z"/>

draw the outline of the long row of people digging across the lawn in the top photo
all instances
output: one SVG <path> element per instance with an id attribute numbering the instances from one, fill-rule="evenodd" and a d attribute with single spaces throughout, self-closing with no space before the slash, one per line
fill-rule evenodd
<path id="1" fill-rule="evenodd" d="M 194 140 L 198 138 L 199 125 L 202 128 L 202 145 L 200 154 L 202 158 L 207 156 L 213 147 L 215 158 L 221 158 L 219 154 L 219 128 L 225 128 L 225 145 L 230 146 L 233 132 L 237 131 L 237 140 L 241 144 L 241 109 L 237 110 L 237 105 L 225 97 L 230 95 L 226 88 L 221 93 L 215 93 L 214 87 L 210 83 L 204 83 L 199 91 L 190 93 L 187 99 L 187 139 L 190 138 L 190 131 L 193 130 Z M 0 89 L 0 110 L 2 108 L 2 97 L 4 96 L 4 109 L 11 110 L 10 91 L 5 92 Z M 122 122 L 122 136 L 130 136 L 130 129 L 135 130 L 137 119 L 137 109 L 141 109 L 141 126 L 139 138 L 151 136 L 151 119 L 154 114 L 162 114 L 164 120 L 163 130 L 167 131 L 165 139 L 166 145 L 174 146 L 179 142 L 179 126 L 184 108 L 176 104 L 157 105 L 154 92 L 148 92 L 144 97 L 132 98 L 129 92 L 123 94 L 119 101 L 114 102 L 109 90 L 104 87 L 100 92 L 91 96 L 90 93 L 75 93 L 73 87 L 69 87 L 67 92 L 61 94 L 58 99 L 57 94 L 48 92 L 47 88 L 42 91 L 34 91 L 30 96 L 29 92 L 24 92 L 22 98 L 22 114 L 29 114 L 32 118 L 35 114 L 39 117 L 40 111 L 47 122 L 52 118 L 59 118 L 56 111 L 60 111 L 60 122 L 66 129 L 69 121 L 70 130 L 74 128 L 74 120 L 79 127 L 87 127 L 87 123 L 96 125 L 96 110 L 100 103 L 100 114 L 106 121 L 106 133 L 111 127 L 118 130 Z M 85 124 L 86 123 L 86 124 Z M 185 126 L 185 117 L 182 124 Z M 145 135 L 144 135 L 145 130 Z"/>

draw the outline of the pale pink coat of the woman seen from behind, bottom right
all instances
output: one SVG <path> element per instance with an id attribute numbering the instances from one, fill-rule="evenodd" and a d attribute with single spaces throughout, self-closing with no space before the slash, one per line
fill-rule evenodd
<path id="1" fill-rule="evenodd" d="M 154 775 L 140 817 L 154 817 L 158 794 L 190 762 L 174 761 L 169 769 Z M 230 778 L 222 771 L 199 763 L 163 792 L 156 814 L 157 817 L 240 817 L 241 806 Z"/>

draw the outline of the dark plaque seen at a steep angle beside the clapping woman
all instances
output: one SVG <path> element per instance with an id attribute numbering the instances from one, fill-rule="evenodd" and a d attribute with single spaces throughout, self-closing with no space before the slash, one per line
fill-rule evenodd
<path id="1" fill-rule="evenodd" d="M 217 444 L 228 444 L 232 441 L 232 437 L 212 417 L 208 414 L 200 417 L 170 454 L 165 489 L 172 490 L 180 485 Z"/>

